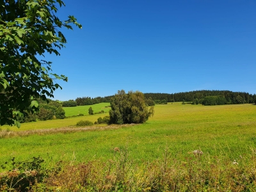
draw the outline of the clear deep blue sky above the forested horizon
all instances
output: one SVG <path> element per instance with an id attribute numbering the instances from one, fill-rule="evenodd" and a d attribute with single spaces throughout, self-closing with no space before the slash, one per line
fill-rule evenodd
<path id="1" fill-rule="evenodd" d="M 61 56 L 46 56 L 63 90 L 54 99 L 118 90 L 256 93 L 256 1 L 71 1 L 58 12 L 83 29 L 63 29 Z"/>

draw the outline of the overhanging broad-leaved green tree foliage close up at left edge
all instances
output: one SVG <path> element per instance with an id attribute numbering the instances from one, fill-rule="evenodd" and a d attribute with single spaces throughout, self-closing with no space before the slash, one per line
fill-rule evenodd
<path id="1" fill-rule="evenodd" d="M 38 111 L 37 98 L 46 100 L 61 88 L 54 79 L 67 77 L 51 73 L 51 61 L 40 60 L 45 53 L 60 55 L 67 43 L 60 28 L 79 28 L 74 16 L 56 17 L 60 0 L 9 0 L 0 2 L 0 124 L 19 123 L 15 116 Z M 52 79 L 54 77 L 54 79 Z"/>

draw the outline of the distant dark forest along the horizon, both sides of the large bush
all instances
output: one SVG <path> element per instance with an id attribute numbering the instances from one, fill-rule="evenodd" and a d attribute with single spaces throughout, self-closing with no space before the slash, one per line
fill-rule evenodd
<path id="1" fill-rule="evenodd" d="M 180 93 L 144 93 L 146 100 L 153 100 L 155 104 L 166 104 L 167 102 L 191 102 L 192 104 L 220 105 L 220 104 L 243 104 L 256 102 L 256 95 L 246 92 L 230 92 L 219 90 L 200 90 Z M 111 96 L 107 97 L 77 97 L 76 100 L 62 102 L 63 107 L 84 106 L 110 102 Z"/>

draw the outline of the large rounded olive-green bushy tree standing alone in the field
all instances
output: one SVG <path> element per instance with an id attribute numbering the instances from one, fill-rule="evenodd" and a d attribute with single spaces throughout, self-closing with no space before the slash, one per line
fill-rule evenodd
<path id="1" fill-rule="evenodd" d="M 145 98 L 141 92 L 118 91 L 111 99 L 109 111 L 111 124 L 142 124 L 154 112 L 154 106 L 148 111 Z"/>

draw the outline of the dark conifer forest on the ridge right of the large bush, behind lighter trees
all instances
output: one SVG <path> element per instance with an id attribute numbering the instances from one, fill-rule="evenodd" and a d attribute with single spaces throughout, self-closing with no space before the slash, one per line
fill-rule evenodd
<path id="1" fill-rule="evenodd" d="M 225 97 L 228 104 L 239 104 L 239 103 L 254 103 L 256 95 L 252 95 L 245 92 L 230 92 L 230 91 L 219 91 L 219 90 L 201 90 L 193 92 L 181 92 L 181 93 L 144 93 L 145 98 L 152 100 L 166 100 L 167 102 L 178 102 L 186 101 L 193 102 L 195 99 L 202 100 L 205 97 Z"/>

